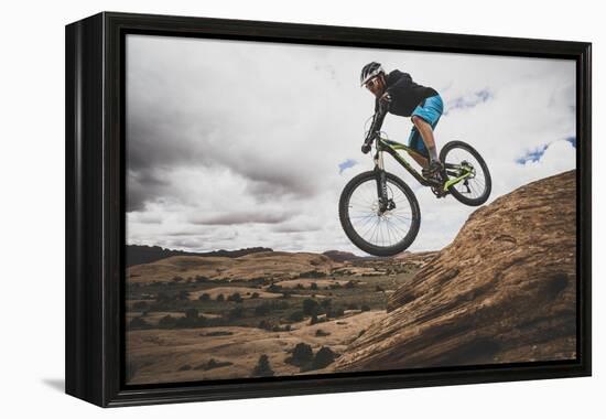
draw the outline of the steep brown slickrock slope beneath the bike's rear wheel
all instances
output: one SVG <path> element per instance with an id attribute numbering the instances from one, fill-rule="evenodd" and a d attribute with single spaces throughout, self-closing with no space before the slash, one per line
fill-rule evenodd
<path id="1" fill-rule="evenodd" d="M 477 210 L 331 369 L 574 358 L 575 196 L 571 171 Z"/>

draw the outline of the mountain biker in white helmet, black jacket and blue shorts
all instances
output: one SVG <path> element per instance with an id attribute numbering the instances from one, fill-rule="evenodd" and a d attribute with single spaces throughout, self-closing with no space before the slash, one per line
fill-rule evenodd
<path id="1" fill-rule="evenodd" d="M 433 130 L 442 116 L 444 104 L 437 92 L 418 85 L 408 73 L 394 69 L 386 74 L 381 64 L 376 62 L 362 67 L 360 86 L 366 86 L 376 97 L 372 125 L 361 147 L 362 153 L 370 151 L 387 112 L 410 117 L 414 127 L 410 132 L 409 147 L 419 154 L 409 154 L 421 164 L 425 178 L 441 182 L 442 164 L 437 158 Z"/>

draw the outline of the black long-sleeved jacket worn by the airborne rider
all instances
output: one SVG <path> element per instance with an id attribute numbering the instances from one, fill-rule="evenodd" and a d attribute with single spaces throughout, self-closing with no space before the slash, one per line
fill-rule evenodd
<path id="1" fill-rule="evenodd" d="M 408 73 L 394 69 L 387 76 L 387 93 L 391 96 L 389 114 L 410 117 L 423 99 L 437 95 L 431 87 L 418 85 Z M 379 109 L 379 99 L 375 100 L 375 111 Z"/>

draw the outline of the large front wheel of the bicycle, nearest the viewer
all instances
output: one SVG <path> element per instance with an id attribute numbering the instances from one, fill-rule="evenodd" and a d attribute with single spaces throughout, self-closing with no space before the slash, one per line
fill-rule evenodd
<path id="1" fill-rule="evenodd" d="M 374 256 L 393 256 L 414 241 L 421 211 L 414 193 L 401 179 L 386 173 L 387 210 L 381 211 L 376 172 L 351 179 L 340 194 L 339 219 L 347 237 Z"/>

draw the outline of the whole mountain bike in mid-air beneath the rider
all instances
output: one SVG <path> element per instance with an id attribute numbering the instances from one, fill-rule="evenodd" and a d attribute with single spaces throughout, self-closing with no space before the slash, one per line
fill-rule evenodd
<path id="1" fill-rule="evenodd" d="M 338 204 L 345 234 L 354 245 L 370 255 L 385 257 L 404 251 L 416 238 L 421 226 L 416 196 L 404 181 L 386 172 L 385 152 L 391 154 L 421 185 L 431 187 L 439 198 L 452 195 L 465 205 L 478 206 L 490 196 L 493 181 L 488 166 L 481 155 L 463 141 L 447 142 L 440 151 L 442 181 L 423 176 L 400 154 L 404 151 L 421 155 L 408 146 L 378 135 L 375 149 L 375 169 L 351 179 Z"/>

